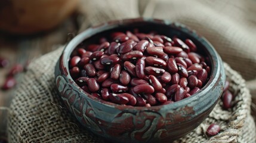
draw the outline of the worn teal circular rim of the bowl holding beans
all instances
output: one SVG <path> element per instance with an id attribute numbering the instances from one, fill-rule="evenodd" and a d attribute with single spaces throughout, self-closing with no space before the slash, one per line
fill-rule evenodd
<path id="1" fill-rule="evenodd" d="M 76 48 L 76 46 L 79 45 L 79 43 L 81 43 L 85 39 L 88 39 L 97 33 L 104 32 L 105 30 L 110 30 L 110 29 L 113 29 L 115 27 L 118 27 L 118 26 L 121 26 L 124 24 L 141 23 L 141 22 L 164 24 L 166 26 L 170 26 L 171 28 L 176 27 L 176 28 L 180 29 L 182 32 L 186 33 L 186 35 L 192 36 L 193 38 L 198 40 L 204 46 L 203 48 L 208 52 L 209 55 L 211 55 L 211 57 L 210 57 L 210 59 L 211 59 L 211 76 L 209 77 L 209 80 L 205 84 L 205 86 L 203 86 L 203 88 L 201 88 L 201 90 L 199 90 L 198 92 L 196 92 L 196 94 L 193 94 L 192 96 L 190 96 L 188 98 L 185 98 L 181 101 L 174 102 L 172 104 L 154 105 L 152 107 L 137 107 L 137 106 L 131 106 L 131 105 L 125 105 L 125 106 L 119 105 L 119 104 L 115 104 L 113 102 L 104 101 L 104 100 L 95 98 L 91 94 L 88 94 L 83 89 L 81 89 L 75 83 L 75 80 L 73 80 L 69 74 L 68 61 L 70 59 L 71 52 L 73 51 L 73 49 Z M 156 19 L 156 18 L 144 18 L 144 17 L 129 18 L 129 19 L 124 19 L 124 20 L 112 20 L 107 23 L 102 23 L 97 26 L 90 27 L 89 29 L 84 30 L 83 32 L 79 33 L 79 35 L 75 36 L 69 43 L 67 43 L 67 45 L 65 46 L 65 48 L 63 50 L 61 58 L 62 58 L 62 60 L 60 60 L 60 61 L 63 62 L 61 64 L 61 66 L 63 66 L 62 68 L 66 69 L 66 70 L 63 70 L 63 69 L 60 69 L 60 70 L 64 73 L 63 75 L 66 76 L 67 81 L 69 83 L 73 84 L 78 89 L 78 91 L 82 93 L 83 97 L 90 98 L 92 101 L 95 101 L 95 102 L 100 102 L 100 104 L 106 105 L 107 107 L 119 108 L 119 110 L 159 110 L 159 108 L 162 108 L 162 107 L 165 107 L 165 109 L 184 107 L 187 104 L 189 104 L 189 102 L 192 102 L 195 100 L 200 100 L 200 98 L 203 95 L 205 95 L 207 92 L 209 92 L 209 90 L 211 90 L 211 88 L 216 86 L 216 83 L 219 80 L 218 77 L 220 77 L 220 74 L 221 74 L 220 73 L 221 66 L 223 66 L 222 60 L 221 60 L 220 56 L 217 54 L 217 51 L 215 51 L 214 46 L 212 46 L 211 43 L 209 43 L 203 36 L 198 35 L 198 33 L 196 33 L 195 30 L 190 29 L 189 27 L 185 26 L 184 24 L 172 22 L 170 20 L 160 20 L 160 19 Z M 220 96 L 215 98 L 216 100 L 214 102 L 216 102 L 218 100 L 218 98 L 220 98 Z"/>

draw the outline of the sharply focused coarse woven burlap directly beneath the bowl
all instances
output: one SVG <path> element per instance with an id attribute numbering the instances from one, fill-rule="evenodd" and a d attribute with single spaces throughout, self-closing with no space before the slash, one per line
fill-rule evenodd
<path id="1" fill-rule="evenodd" d="M 104 142 L 81 128 L 61 103 L 54 83 L 54 66 L 63 48 L 30 64 L 10 107 L 9 142 Z M 209 117 L 193 132 L 176 142 L 255 142 L 250 115 L 251 95 L 240 74 L 224 64 L 230 91 L 236 95 L 232 110 L 219 101 Z M 208 138 L 205 131 L 217 123 L 221 132 Z"/>

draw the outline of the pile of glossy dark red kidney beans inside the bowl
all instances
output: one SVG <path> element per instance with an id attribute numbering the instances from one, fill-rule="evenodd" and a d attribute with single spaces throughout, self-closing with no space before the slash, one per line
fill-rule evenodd
<path id="1" fill-rule="evenodd" d="M 78 45 L 69 71 L 84 91 L 116 104 L 150 107 L 190 97 L 208 81 L 209 59 L 193 41 L 134 31 Z"/>

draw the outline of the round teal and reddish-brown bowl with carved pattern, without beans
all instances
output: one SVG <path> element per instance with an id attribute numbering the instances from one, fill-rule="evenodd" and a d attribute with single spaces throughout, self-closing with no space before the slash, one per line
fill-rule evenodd
<path id="1" fill-rule="evenodd" d="M 69 58 L 76 46 L 81 42 L 93 43 L 113 31 L 135 28 L 145 33 L 154 30 L 168 37 L 191 39 L 211 61 L 211 75 L 206 85 L 189 98 L 152 107 L 114 104 L 83 91 L 69 73 Z M 66 45 L 55 66 L 55 83 L 66 107 L 81 125 L 110 142 L 171 142 L 181 138 L 211 113 L 221 97 L 225 80 L 221 58 L 205 38 L 183 24 L 152 18 L 110 21 L 91 27 Z"/>

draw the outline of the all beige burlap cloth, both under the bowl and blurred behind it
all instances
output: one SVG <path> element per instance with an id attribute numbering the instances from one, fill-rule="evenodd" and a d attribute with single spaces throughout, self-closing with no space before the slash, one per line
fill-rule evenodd
<path id="1" fill-rule="evenodd" d="M 248 88 L 255 91 L 255 5 L 253 0 L 84 0 L 80 8 L 80 32 L 120 18 L 146 16 L 178 21 L 205 36 L 224 61 L 246 80 L 251 80 L 247 82 L 251 85 Z M 59 48 L 30 64 L 10 107 L 10 142 L 104 142 L 81 128 L 61 104 L 54 85 L 54 66 L 61 51 Z M 234 107 L 223 110 L 219 101 L 198 128 L 176 142 L 255 142 L 255 123 L 250 115 L 251 95 L 245 80 L 227 64 L 224 66 L 230 90 L 236 95 Z M 220 125 L 221 132 L 208 138 L 205 130 L 211 123 Z"/>

